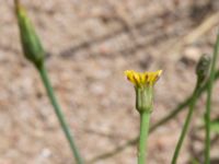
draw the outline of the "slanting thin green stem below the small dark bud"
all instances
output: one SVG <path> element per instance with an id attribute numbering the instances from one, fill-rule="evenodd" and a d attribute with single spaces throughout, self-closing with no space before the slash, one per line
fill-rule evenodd
<path id="1" fill-rule="evenodd" d="M 198 87 L 198 84 L 197 84 L 197 86 L 194 90 L 193 96 L 192 96 L 192 101 L 191 101 L 191 104 L 189 104 L 189 110 L 188 110 L 188 114 L 186 116 L 186 120 L 185 120 L 185 124 L 183 126 L 183 130 L 182 130 L 181 136 L 178 138 L 177 144 L 175 147 L 175 151 L 174 151 L 171 164 L 176 164 L 176 162 L 177 162 L 177 157 L 178 157 L 183 141 L 185 139 L 185 134 L 187 132 L 188 126 L 189 126 L 191 120 L 192 120 L 194 106 L 196 104 L 198 93 L 199 93 L 199 87 Z"/>

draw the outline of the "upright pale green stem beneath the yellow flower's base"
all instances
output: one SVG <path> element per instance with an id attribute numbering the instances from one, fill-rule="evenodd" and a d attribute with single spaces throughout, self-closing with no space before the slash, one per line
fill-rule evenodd
<path id="1" fill-rule="evenodd" d="M 140 113 L 140 137 L 138 145 L 138 164 L 146 164 L 147 159 L 147 140 L 149 132 L 150 113 Z"/>

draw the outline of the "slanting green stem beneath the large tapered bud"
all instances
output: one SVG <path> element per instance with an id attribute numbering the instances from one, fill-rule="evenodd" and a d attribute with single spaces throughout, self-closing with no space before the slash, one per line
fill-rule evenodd
<path id="1" fill-rule="evenodd" d="M 69 126 L 68 126 L 68 124 L 67 124 L 67 121 L 65 119 L 62 110 L 61 110 L 61 108 L 60 108 L 60 106 L 58 104 L 58 101 L 57 101 L 57 98 L 56 98 L 56 96 L 54 94 L 54 90 L 51 87 L 51 84 L 50 84 L 50 81 L 49 81 L 49 78 L 48 78 L 48 74 L 47 74 L 47 71 L 46 71 L 44 65 L 42 65 L 42 67 L 38 67 L 38 72 L 39 72 L 42 81 L 43 81 L 43 83 L 44 83 L 44 85 L 46 87 L 46 91 L 47 91 L 48 97 L 50 99 L 50 103 L 54 106 L 56 116 L 58 117 L 60 126 L 61 126 L 61 128 L 62 128 L 62 130 L 64 130 L 64 132 L 66 134 L 66 138 L 67 138 L 67 140 L 69 142 L 70 149 L 71 149 L 71 151 L 73 153 L 73 156 L 74 156 L 74 159 L 77 161 L 77 164 L 83 164 L 83 161 L 82 161 L 82 159 L 81 159 L 81 156 L 79 154 L 79 151 L 78 151 L 78 149 L 76 147 L 76 143 L 73 141 L 73 137 L 71 134 L 70 128 L 69 128 Z"/>

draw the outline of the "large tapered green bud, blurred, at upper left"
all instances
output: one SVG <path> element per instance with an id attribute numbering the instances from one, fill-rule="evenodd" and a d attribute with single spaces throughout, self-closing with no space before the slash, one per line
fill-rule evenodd
<path id="1" fill-rule="evenodd" d="M 19 0 L 14 0 L 14 4 L 23 52 L 36 67 L 41 67 L 44 62 L 45 52 L 39 37 L 37 36 L 25 9 L 20 4 Z"/>

